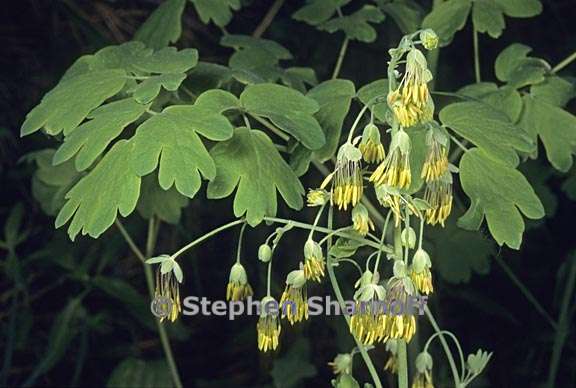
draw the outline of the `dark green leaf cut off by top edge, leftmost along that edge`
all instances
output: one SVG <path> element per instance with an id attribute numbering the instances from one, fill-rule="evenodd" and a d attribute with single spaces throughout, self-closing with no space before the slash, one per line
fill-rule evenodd
<path id="1" fill-rule="evenodd" d="M 176 43 L 182 34 L 182 13 L 186 0 L 166 0 L 138 28 L 134 40 L 159 49 Z"/>

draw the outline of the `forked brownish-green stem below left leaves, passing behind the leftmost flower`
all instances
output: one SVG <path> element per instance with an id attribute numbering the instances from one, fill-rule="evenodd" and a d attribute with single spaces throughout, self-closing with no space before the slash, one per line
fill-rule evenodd
<path id="1" fill-rule="evenodd" d="M 134 240 L 124 228 L 124 225 L 120 222 L 120 220 L 116 219 L 115 221 L 116 226 L 120 230 L 120 233 L 128 243 L 128 246 L 132 250 L 132 252 L 140 259 L 142 265 L 144 267 L 144 274 L 146 276 L 146 285 L 148 287 L 148 293 L 151 297 L 154 295 L 154 276 L 152 275 L 152 267 L 147 265 L 146 256 L 142 253 L 140 248 L 134 243 Z M 156 241 L 156 233 L 157 229 L 154 228 L 154 219 L 150 219 L 150 223 L 148 224 L 148 238 L 146 241 L 146 253 L 148 257 L 151 257 L 153 254 L 153 248 Z M 180 380 L 180 375 L 178 374 L 178 367 L 176 366 L 176 361 L 174 360 L 174 355 L 172 353 L 172 348 L 170 347 L 170 340 L 168 339 L 168 334 L 166 334 L 166 328 L 160 323 L 160 321 L 156 320 L 156 327 L 158 329 L 158 334 L 160 336 L 160 342 L 162 343 L 162 349 L 164 350 L 164 355 L 166 356 L 166 362 L 168 363 L 168 368 L 170 369 L 170 374 L 172 375 L 172 380 L 174 382 L 174 386 L 176 388 L 182 388 L 182 381 Z"/>

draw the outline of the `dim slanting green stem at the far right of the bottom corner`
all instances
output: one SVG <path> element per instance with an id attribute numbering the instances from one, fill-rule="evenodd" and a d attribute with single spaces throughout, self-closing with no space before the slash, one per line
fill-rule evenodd
<path id="1" fill-rule="evenodd" d="M 549 388 L 553 388 L 556 382 L 556 375 L 560 366 L 560 358 L 562 357 L 562 348 L 570 333 L 570 301 L 574 293 L 574 286 L 576 283 L 576 259 L 570 263 L 570 272 L 566 278 L 566 288 L 564 289 L 564 296 L 562 297 L 562 305 L 560 307 L 560 315 L 558 316 L 558 329 L 554 336 L 554 345 L 552 347 L 552 357 L 550 358 L 550 368 L 548 369 L 548 384 Z"/>

